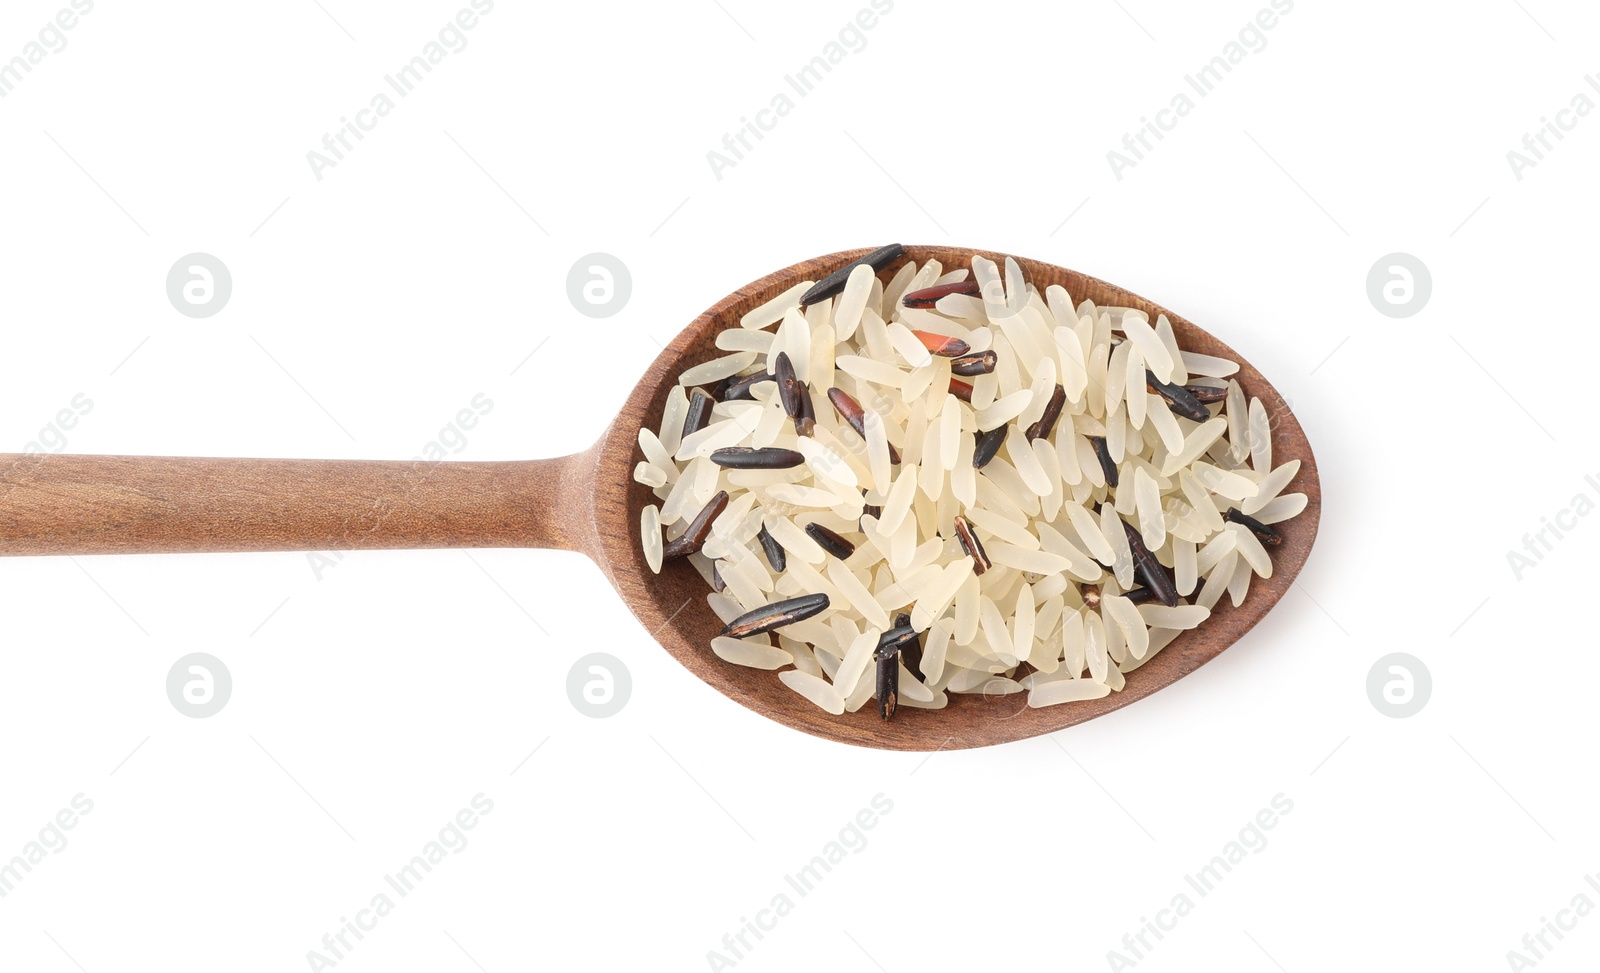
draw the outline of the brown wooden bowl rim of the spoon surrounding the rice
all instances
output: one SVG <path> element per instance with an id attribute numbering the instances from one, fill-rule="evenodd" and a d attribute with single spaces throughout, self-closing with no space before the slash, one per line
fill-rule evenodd
<path id="1" fill-rule="evenodd" d="M 906 251 L 906 259 L 917 262 L 938 259 L 947 269 L 968 266 L 968 259 L 974 253 L 950 246 L 910 245 Z M 690 672 L 768 719 L 827 739 L 894 751 L 981 747 L 1061 730 L 1136 703 L 1216 658 L 1261 621 L 1283 597 L 1310 554 L 1322 517 L 1317 459 L 1283 397 L 1238 352 L 1184 317 L 1104 280 L 1018 258 L 1029 282 L 1038 290 L 1059 283 L 1067 288 L 1074 302 L 1090 299 L 1096 304 L 1139 307 L 1149 312 L 1150 320 L 1165 314 L 1173 323 L 1179 346 L 1186 350 L 1238 362 L 1235 378 L 1246 395 L 1261 398 L 1272 419 L 1274 462 L 1301 461 L 1301 469 L 1286 491 L 1299 491 L 1307 496 L 1306 511 L 1299 517 L 1277 525 L 1283 533 L 1283 544 L 1272 552 L 1272 578 L 1253 579 L 1250 597 L 1238 608 L 1234 608 L 1224 597 L 1216 613 L 1200 629 L 1179 635 L 1154 659 L 1130 672 L 1123 691 L 1112 693 L 1104 699 L 1045 709 L 1029 709 L 1026 693 L 992 698 L 952 695 L 946 709 L 902 706 L 888 722 L 880 720 L 870 706 L 859 712 L 834 717 L 786 688 L 778 682 L 774 672 L 733 666 L 714 656 L 709 642 L 722 631 L 722 623 L 706 605 L 706 581 L 685 562 L 669 562 L 662 567 L 659 578 L 653 576 L 640 552 L 638 512 L 643 504 L 654 503 L 654 496 L 648 486 L 632 482 L 632 466 L 642 458 L 637 445 L 638 427 L 642 424 L 651 429 L 656 426 L 667 392 L 672 390 L 682 370 L 725 354 L 715 347 L 718 331 L 736 328 L 746 310 L 776 298 L 792 285 L 802 280 L 819 280 L 827 272 L 866 253 L 869 250 L 864 248 L 802 261 L 718 301 L 656 358 L 598 445 L 595 467 L 598 549 L 590 554 L 605 568 L 645 631 L 651 632 Z M 976 253 L 995 261 L 1005 259 L 1005 254 L 1000 253 Z M 899 262 L 886 267 L 880 277 L 888 280 L 899 269 Z M 685 699 L 683 704 L 693 706 L 694 701 Z"/>

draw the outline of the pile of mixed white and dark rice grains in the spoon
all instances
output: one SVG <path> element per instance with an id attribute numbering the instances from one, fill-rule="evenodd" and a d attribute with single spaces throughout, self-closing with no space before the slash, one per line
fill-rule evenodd
<path id="1" fill-rule="evenodd" d="M 939 709 L 950 693 L 1066 704 L 1122 690 L 1224 591 L 1240 605 L 1253 578 L 1272 576 L 1262 539 L 1275 543 L 1269 525 L 1306 496 L 1283 493 L 1299 462 L 1272 466 L 1267 411 L 1230 379 L 1235 363 L 1182 350 L 1165 315 L 1040 293 L 1011 258 L 906 262 L 886 283 L 858 264 L 837 296 L 802 306 L 805 282 L 720 333 L 728 354 L 685 371 L 659 429 L 638 432 L 634 475 L 661 499 L 642 515 L 645 557 L 656 571 L 688 557 L 706 576 L 730 623 L 717 656 L 779 671 L 830 714 L 874 698 L 885 717 L 896 704 Z M 976 293 L 902 301 L 946 283 Z M 992 371 L 952 376 L 933 336 L 994 352 Z M 808 397 L 798 410 L 776 378 L 741 381 L 776 374 L 779 354 Z M 1210 419 L 1174 414 L 1149 376 L 1214 398 Z M 859 403 L 864 435 L 832 389 Z M 1053 397 L 1059 418 L 1037 435 Z M 974 469 L 979 435 L 995 429 L 1003 445 Z M 792 450 L 798 466 L 712 459 L 738 446 Z M 1136 565 L 1131 535 L 1158 565 Z M 1154 597 L 1146 571 L 1176 605 Z M 803 595 L 822 597 L 800 621 L 734 624 Z M 904 651 L 885 659 L 890 639 Z"/>

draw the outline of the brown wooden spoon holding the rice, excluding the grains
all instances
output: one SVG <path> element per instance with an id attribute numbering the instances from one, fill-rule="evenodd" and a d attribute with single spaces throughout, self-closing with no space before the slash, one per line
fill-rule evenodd
<path id="1" fill-rule="evenodd" d="M 205 551 L 362 551 L 394 547 L 557 547 L 594 559 L 645 631 L 690 672 L 749 709 L 827 739 L 894 751 L 981 747 L 1050 733 L 1149 696 L 1237 642 L 1288 591 L 1317 536 L 1322 490 L 1306 434 L 1283 397 L 1230 347 L 1182 317 L 1075 270 L 1018 259 L 1045 290 L 1074 301 L 1165 314 L 1186 350 L 1238 362 L 1237 379 L 1272 419 L 1274 462 L 1299 459 L 1291 490 L 1306 511 L 1278 525 L 1274 575 L 1254 579 L 1240 608 L 1227 599 L 1128 674 L 1102 699 L 1029 709 L 1026 693 L 950 695 L 946 709 L 901 706 L 893 720 L 874 707 L 829 715 L 773 672 L 723 663 L 709 642 L 722 621 L 706 603 L 704 579 L 685 560 L 651 575 L 640 551 L 640 511 L 653 501 L 635 483 L 638 429 L 654 429 L 680 371 L 718 357 L 715 336 L 744 312 L 802 280 L 819 280 L 866 250 L 835 253 L 778 270 L 718 301 L 661 352 L 590 450 L 522 462 L 373 462 L 315 459 L 178 459 L 142 456 L 0 454 L 0 554 L 149 554 Z M 899 262 L 938 259 L 965 267 L 973 251 L 907 246 Z M 1003 261 L 1003 254 L 984 253 Z M 696 704 L 685 688 L 685 706 Z"/>

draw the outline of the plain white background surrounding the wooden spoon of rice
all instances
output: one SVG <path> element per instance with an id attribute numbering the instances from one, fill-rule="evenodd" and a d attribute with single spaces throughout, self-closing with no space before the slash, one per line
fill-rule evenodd
<path id="1" fill-rule="evenodd" d="M 1325 491 L 1296 589 L 1147 701 L 925 757 L 718 696 L 578 555 L 3 560 L 0 859 L 94 810 L 0 899 L 0 967 L 304 970 L 480 792 L 341 970 L 702 970 L 877 794 L 867 845 L 738 968 L 1107 968 L 1189 891 L 1141 970 L 1502 970 L 1600 903 L 1600 519 L 1507 563 L 1600 498 L 1600 118 L 1522 179 L 1506 158 L 1600 99 L 1600 14 L 1299 0 L 1117 179 L 1107 150 L 1264 2 L 899 0 L 718 181 L 707 150 L 864 5 L 499 0 L 318 181 L 306 154 L 466 0 L 101 0 L 0 99 L 0 445 L 82 392 L 69 451 L 406 459 L 483 392 L 454 458 L 563 454 L 730 290 L 973 245 L 1174 307 L 1277 384 Z M 6 3 L 0 59 L 62 6 Z M 194 251 L 234 277 L 205 320 L 163 290 Z M 592 251 L 632 270 L 605 322 L 565 290 Z M 1405 320 L 1366 298 L 1394 251 L 1432 270 Z M 211 719 L 165 695 L 190 651 L 232 671 Z M 632 674 L 616 717 L 566 698 L 589 651 Z M 1411 719 L 1366 696 L 1390 651 L 1432 672 Z M 1187 890 L 1277 794 L 1269 843 Z M 1594 968 L 1600 919 L 1550 943 L 1539 970 Z"/>

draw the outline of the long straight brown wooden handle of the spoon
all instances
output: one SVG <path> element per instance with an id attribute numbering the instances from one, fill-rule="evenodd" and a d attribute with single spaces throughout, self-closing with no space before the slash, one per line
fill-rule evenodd
<path id="1" fill-rule="evenodd" d="M 522 462 L 0 454 L 0 555 L 592 551 L 592 453 Z"/>

